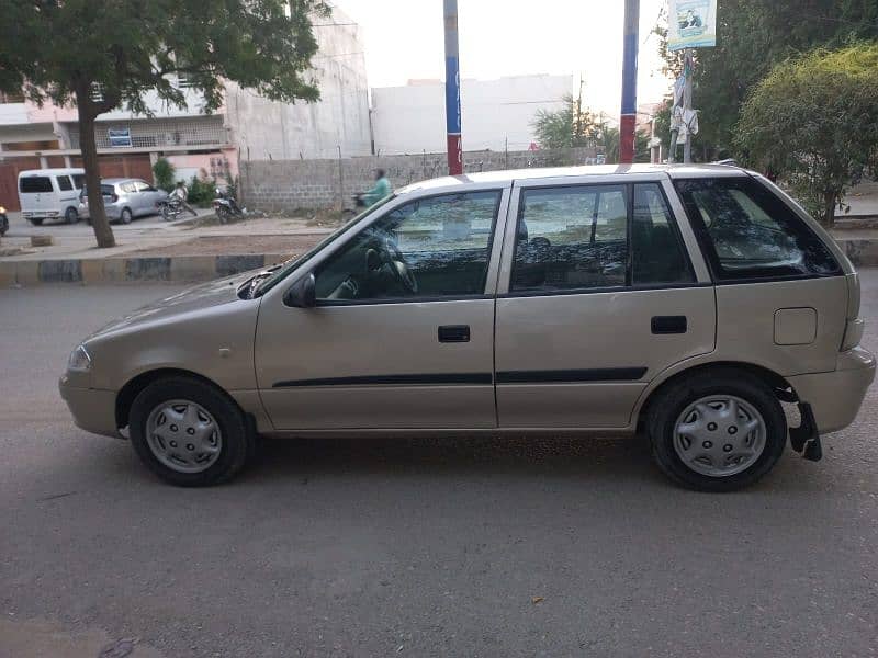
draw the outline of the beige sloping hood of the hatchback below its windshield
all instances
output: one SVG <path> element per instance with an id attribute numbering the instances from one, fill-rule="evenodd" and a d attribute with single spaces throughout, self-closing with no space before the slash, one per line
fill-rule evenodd
<path id="1" fill-rule="evenodd" d="M 248 272 L 218 279 L 148 304 L 101 327 L 89 336 L 86 341 L 104 338 L 128 329 L 137 329 L 146 325 L 166 324 L 192 317 L 199 311 L 225 304 L 258 304 L 258 299 L 241 299 L 238 296 L 240 285 L 250 279 L 252 274 L 252 272 Z"/>

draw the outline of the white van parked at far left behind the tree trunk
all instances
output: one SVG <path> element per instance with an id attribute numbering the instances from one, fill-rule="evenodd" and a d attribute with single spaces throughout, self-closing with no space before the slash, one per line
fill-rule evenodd
<path id="1" fill-rule="evenodd" d="M 30 169 L 19 173 L 21 216 L 34 226 L 43 219 L 79 222 L 79 192 L 86 184 L 85 169 Z"/>

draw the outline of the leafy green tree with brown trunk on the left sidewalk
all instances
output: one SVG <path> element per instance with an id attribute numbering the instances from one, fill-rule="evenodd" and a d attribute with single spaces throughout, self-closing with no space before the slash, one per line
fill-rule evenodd
<path id="1" fill-rule="evenodd" d="M 148 114 L 145 94 L 183 107 L 184 75 L 217 109 L 224 82 L 282 101 L 315 101 L 312 16 L 323 0 L 4 0 L 0 2 L 0 90 L 36 103 L 74 103 L 86 185 L 100 183 L 94 120 L 115 107 Z M 89 195 L 99 247 L 115 245 L 103 198 Z"/>

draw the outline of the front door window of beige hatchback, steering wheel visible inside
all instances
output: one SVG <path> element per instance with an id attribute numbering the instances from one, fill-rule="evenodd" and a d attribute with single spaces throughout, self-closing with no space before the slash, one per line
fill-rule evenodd
<path id="1" fill-rule="evenodd" d="M 484 294 L 499 198 L 499 191 L 444 194 L 392 211 L 318 268 L 318 303 Z"/>

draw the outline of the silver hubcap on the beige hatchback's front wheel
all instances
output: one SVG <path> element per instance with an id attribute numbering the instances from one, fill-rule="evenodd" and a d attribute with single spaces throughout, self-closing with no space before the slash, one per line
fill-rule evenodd
<path id="1" fill-rule="evenodd" d="M 168 468 L 201 473 L 219 457 L 223 434 L 213 416 L 201 405 L 191 400 L 168 400 L 147 417 L 146 442 Z"/>

